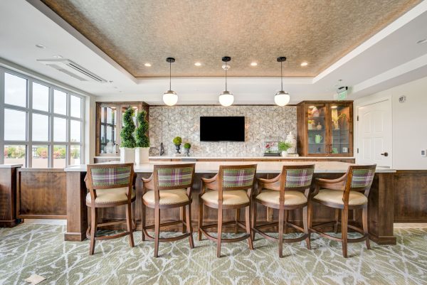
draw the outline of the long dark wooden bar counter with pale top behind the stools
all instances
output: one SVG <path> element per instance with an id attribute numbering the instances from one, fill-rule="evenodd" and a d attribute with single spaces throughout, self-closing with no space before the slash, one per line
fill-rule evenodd
<path id="1" fill-rule="evenodd" d="M 114 163 L 114 162 L 109 162 Z M 151 161 L 141 165 L 135 165 L 135 173 L 137 175 L 136 191 L 137 200 L 135 201 L 135 217 L 137 219 L 137 228 L 140 229 L 141 220 L 141 198 L 142 198 L 142 180 L 151 176 L 154 164 L 181 164 L 189 163 L 189 161 Z M 273 178 L 280 173 L 284 165 L 301 165 L 315 163 L 315 178 L 338 178 L 347 172 L 348 166 L 351 163 L 343 163 L 338 161 L 197 161 L 196 176 L 194 178 L 191 207 L 191 220 L 196 227 L 197 213 L 199 206 L 198 195 L 201 185 L 201 177 L 211 178 L 217 172 L 220 165 L 238 165 L 256 163 L 257 178 Z M 85 188 L 84 178 L 86 175 L 86 165 L 71 166 L 65 168 L 66 173 L 66 195 L 67 195 L 67 232 L 65 232 L 65 240 L 82 241 L 85 240 L 85 232 L 88 228 L 88 208 L 85 205 L 85 197 L 87 189 Z M 377 168 L 369 194 L 369 236 L 371 240 L 379 244 L 396 244 L 396 238 L 393 235 L 393 178 L 396 171 L 389 168 Z M 313 179 L 314 181 L 314 179 Z M 234 213 L 224 213 L 224 219 L 232 220 Z M 162 211 L 162 220 L 174 220 L 179 217 L 178 209 L 170 209 Z M 215 221 L 216 212 L 214 210 L 206 210 L 205 220 Z M 359 224 L 361 221 L 361 213 L 354 211 L 350 213 L 349 221 L 354 224 Z M 100 219 L 115 220 L 125 217 L 125 209 L 123 208 L 106 208 L 102 210 Z M 241 215 L 243 217 L 243 215 Z M 302 213 L 295 211 L 290 213 L 290 220 L 300 222 Z M 273 209 L 266 209 L 258 205 L 258 220 L 271 221 L 277 218 L 277 213 Z M 313 209 L 313 221 L 325 222 L 333 220 L 334 210 L 326 207 L 315 206 Z M 151 222 L 153 215 L 147 213 L 147 222 Z M 176 230 L 176 229 L 171 229 Z M 274 230 L 274 229 L 272 229 Z M 327 229 L 326 229 L 327 230 Z M 194 228 L 196 232 L 196 228 Z"/>

